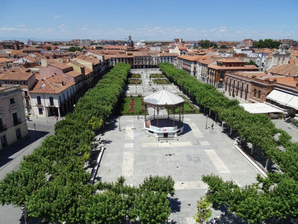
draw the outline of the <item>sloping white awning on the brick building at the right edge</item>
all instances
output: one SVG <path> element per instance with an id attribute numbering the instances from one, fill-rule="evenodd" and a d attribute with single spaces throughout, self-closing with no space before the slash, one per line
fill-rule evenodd
<path id="1" fill-rule="evenodd" d="M 297 94 L 274 89 L 271 93 L 268 94 L 268 96 L 266 96 L 266 99 L 273 100 L 281 105 L 285 105 L 298 110 Z"/>

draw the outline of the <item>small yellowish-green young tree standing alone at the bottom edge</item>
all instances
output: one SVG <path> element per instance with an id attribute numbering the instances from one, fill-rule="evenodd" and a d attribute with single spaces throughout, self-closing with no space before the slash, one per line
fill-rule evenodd
<path id="1" fill-rule="evenodd" d="M 207 221 L 208 218 L 212 215 L 210 202 L 206 198 L 206 196 L 201 197 L 200 200 L 197 201 L 197 209 L 198 211 L 195 213 L 195 216 L 193 218 L 195 219 L 195 222 L 203 224 L 204 221 Z"/>

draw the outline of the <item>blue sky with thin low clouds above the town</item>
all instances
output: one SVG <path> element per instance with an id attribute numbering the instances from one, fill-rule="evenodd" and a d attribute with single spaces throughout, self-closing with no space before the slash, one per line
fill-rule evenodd
<path id="1" fill-rule="evenodd" d="M 0 39 L 298 39 L 297 0 L 3 1 Z"/>

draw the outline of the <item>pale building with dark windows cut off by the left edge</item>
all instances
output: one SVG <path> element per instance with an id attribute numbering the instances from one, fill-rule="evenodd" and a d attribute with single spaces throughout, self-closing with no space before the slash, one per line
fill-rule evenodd
<path id="1" fill-rule="evenodd" d="M 28 135 L 22 92 L 19 85 L 0 87 L 0 149 Z"/>

